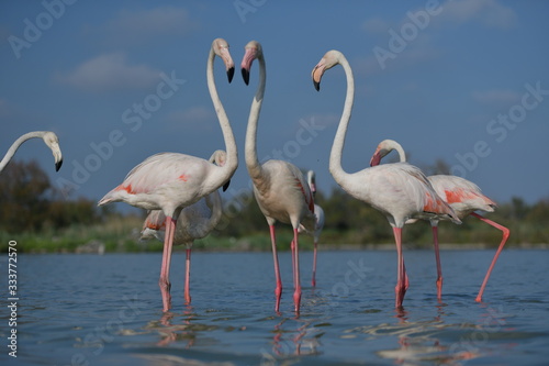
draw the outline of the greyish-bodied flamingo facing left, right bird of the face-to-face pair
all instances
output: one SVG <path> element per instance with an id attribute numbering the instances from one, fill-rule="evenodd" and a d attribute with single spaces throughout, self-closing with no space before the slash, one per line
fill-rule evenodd
<path id="1" fill-rule="evenodd" d="M 246 85 L 249 82 L 249 70 L 254 59 L 259 62 L 259 85 L 256 96 L 251 102 L 246 131 L 245 157 L 248 174 L 254 182 L 254 195 L 259 209 L 264 213 L 269 225 L 272 256 L 274 263 L 274 277 L 277 287 L 274 289 L 274 310 L 280 309 L 280 298 L 282 295 L 282 281 L 277 254 L 277 241 L 274 234 L 274 223 L 277 221 L 289 223 L 293 228 L 292 268 L 293 268 L 293 302 L 295 312 L 300 311 L 301 282 L 299 263 L 299 239 L 298 230 L 300 224 L 312 232 L 314 231 L 314 201 L 311 189 L 303 177 L 301 170 L 283 160 L 270 159 L 262 164 L 257 158 L 257 121 L 264 101 L 266 69 L 265 57 L 261 45 L 256 41 L 250 41 L 246 47 L 242 60 L 242 75 Z"/>

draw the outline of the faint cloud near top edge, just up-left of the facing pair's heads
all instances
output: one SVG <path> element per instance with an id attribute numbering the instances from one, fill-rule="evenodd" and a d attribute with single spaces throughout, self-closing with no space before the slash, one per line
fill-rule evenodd
<path id="1" fill-rule="evenodd" d="M 186 9 L 163 7 L 148 10 L 122 10 L 102 31 L 111 42 L 142 44 L 161 36 L 182 37 L 198 29 Z"/>

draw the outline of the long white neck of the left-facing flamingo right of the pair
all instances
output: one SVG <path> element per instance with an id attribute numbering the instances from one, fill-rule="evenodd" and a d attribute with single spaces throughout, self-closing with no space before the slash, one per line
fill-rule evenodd
<path id="1" fill-rule="evenodd" d="M 341 119 L 339 120 L 339 125 L 337 127 L 336 136 L 334 137 L 334 144 L 332 145 L 332 152 L 329 154 L 329 173 L 341 185 L 349 176 L 341 167 L 341 155 L 345 145 L 345 136 L 347 133 L 347 126 L 349 125 L 349 120 L 352 111 L 352 103 L 355 100 L 355 79 L 352 77 L 352 70 L 350 68 L 347 59 L 340 55 L 339 65 L 343 66 L 345 75 L 347 77 L 347 95 L 345 97 L 344 110 L 341 113 Z"/>

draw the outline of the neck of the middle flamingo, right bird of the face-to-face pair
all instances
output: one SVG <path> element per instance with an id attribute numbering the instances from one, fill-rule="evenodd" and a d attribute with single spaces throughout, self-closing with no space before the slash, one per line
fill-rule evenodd
<path id="1" fill-rule="evenodd" d="M 259 113 L 261 112 L 261 104 L 264 103 L 265 85 L 267 79 L 265 58 L 262 55 L 258 57 L 258 62 L 259 84 L 249 111 L 245 143 L 246 167 L 248 168 L 248 174 L 253 179 L 261 176 L 261 165 L 257 158 L 257 122 L 259 120 Z"/>

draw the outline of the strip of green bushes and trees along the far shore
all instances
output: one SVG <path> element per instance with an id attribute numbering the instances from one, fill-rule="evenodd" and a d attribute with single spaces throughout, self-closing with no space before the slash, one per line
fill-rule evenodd
<path id="1" fill-rule="evenodd" d="M 210 236 L 195 242 L 194 248 L 270 251 L 268 226 L 251 191 L 222 197 L 223 219 Z M 393 243 L 386 219 L 340 189 L 334 189 L 329 196 L 317 192 L 316 203 L 326 214 L 321 245 L 362 247 Z M 9 241 L 14 240 L 18 251 L 25 253 L 96 253 L 98 247 L 108 253 L 161 252 L 163 243 L 138 240 L 145 212 L 122 214 L 96 206 L 96 201 L 85 198 L 63 198 L 35 163 L 12 162 L 0 176 L 0 251 L 7 252 Z M 511 202 L 500 202 L 497 210 L 486 217 L 511 230 L 507 247 L 549 243 L 549 198 L 534 204 L 513 198 Z M 461 225 L 442 222 L 439 228 L 440 243 L 495 247 L 502 237 L 498 230 L 473 218 Z M 291 239 L 291 228 L 278 225 L 280 251 L 289 249 Z M 407 225 L 404 241 L 408 246 L 430 248 L 428 222 Z M 303 249 L 312 248 L 311 237 L 304 235 L 300 243 Z"/>

